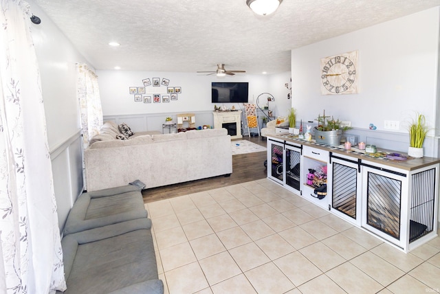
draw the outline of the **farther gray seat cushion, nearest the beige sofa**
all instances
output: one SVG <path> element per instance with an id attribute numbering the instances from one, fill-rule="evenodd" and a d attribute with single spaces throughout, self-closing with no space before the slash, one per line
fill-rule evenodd
<path id="1" fill-rule="evenodd" d="M 67 216 L 65 236 L 136 218 L 146 218 L 147 212 L 140 189 L 135 185 L 83 193 Z"/>

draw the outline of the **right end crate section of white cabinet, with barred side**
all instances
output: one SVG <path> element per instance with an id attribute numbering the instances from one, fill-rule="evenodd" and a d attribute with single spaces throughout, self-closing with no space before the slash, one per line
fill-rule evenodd
<path id="1" fill-rule="evenodd" d="M 364 229 L 404 251 L 437 236 L 438 164 L 412 171 L 362 164 Z"/>

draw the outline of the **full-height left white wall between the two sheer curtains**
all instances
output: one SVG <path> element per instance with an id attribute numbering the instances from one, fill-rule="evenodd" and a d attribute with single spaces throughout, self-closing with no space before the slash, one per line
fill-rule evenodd
<path id="1" fill-rule="evenodd" d="M 41 74 L 58 222 L 62 228 L 70 207 L 83 191 L 76 63 L 87 60 L 39 6 L 32 0 L 28 3 L 31 12 L 41 19 L 40 25 L 32 25 L 32 38 Z"/>

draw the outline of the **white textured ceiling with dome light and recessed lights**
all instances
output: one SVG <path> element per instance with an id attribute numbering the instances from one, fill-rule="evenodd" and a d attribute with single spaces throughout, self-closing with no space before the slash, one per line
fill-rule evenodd
<path id="1" fill-rule="evenodd" d="M 34 0 L 96 69 L 290 71 L 290 51 L 440 5 L 440 0 Z M 31 7 L 32 11 L 32 7 Z M 37 15 L 38 16 L 38 15 Z M 42 24 L 45 19 L 42 17 Z M 110 47 L 117 41 L 119 47 Z"/>

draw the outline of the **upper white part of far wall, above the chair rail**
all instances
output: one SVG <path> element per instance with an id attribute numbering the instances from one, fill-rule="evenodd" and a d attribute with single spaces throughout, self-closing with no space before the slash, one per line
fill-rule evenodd
<path id="1" fill-rule="evenodd" d="M 211 103 L 211 82 L 249 82 L 249 101 L 259 93 L 267 91 L 265 76 L 239 75 L 217 78 L 192 73 L 151 72 L 151 71 L 97 71 L 102 112 L 105 115 L 127 115 L 140 113 L 186 113 L 196 111 L 213 111 Z M 169 103 L 134 102 L 129 87 L 143 87 L 145 78 L 166 78 L 168 87 L 181 87 L 177 101 Z M 166 87 L 146 87 L 146 91 L 166 91 Z M 145 94 L 151 95 L 151 94 Z M 225 104 L 228 108 L 239 104 Z M 241 106 L 242 107 L 242 106 Z"/>

